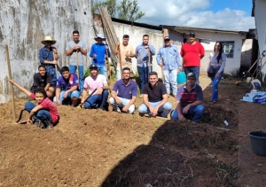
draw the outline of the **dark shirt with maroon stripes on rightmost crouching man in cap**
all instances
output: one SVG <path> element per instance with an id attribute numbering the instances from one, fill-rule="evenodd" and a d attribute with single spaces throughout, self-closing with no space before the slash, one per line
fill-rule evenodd
<path id="1" fill-rule="evenodd" d="M 186 90 L 186 84 L 181 86 L 176 94 L 176 100 L 181 101 L 181 107 L 192 104 L 195 101 L 203 101 L 203 92 L 199 84 L 195 84 L 189 92 Z"/>

